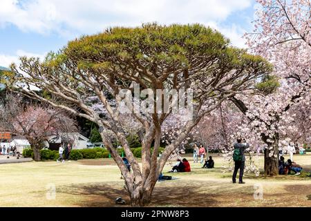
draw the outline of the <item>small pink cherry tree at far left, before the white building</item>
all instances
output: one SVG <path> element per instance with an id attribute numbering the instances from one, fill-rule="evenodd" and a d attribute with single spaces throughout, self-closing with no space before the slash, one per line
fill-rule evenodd
<path id="1" fill-rule="evenodd" d="M 12 134 L 26 137 L 35 161 L 41 160 L 40 150 L 48 137 L 77 131 L 75 121 L 62 110 L 23 104 L 19 97 L 13 95 L 8 95 L 8 100 L 0 111 L 1 125 Z"/>

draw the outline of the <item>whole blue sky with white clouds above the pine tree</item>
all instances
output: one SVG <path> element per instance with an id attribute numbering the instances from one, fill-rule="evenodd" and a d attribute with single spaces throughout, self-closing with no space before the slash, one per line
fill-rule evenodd
<path id="1" fill-rule="evenodd" d="M 252 31 L 255 6 L 255 0 L 1 0 L 0 66 L 22 55 L 43 58 L 109 26 L 152 21 L 203 23 L 245 47 L 241 36 Z"/>

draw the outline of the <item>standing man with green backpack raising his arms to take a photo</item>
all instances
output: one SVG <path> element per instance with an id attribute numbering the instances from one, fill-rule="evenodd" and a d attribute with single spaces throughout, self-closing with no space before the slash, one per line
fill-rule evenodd
<path id="1" fill-rule="evenodd" d="M 249 147 L 249 144 L 245 142 L 245 144 L 242 144 L 242 138 L 236 139 L 236 143 L 234 144 L 234 173 L 232 175 L 232 182 L 236 183 L 236 174 L 238 173 L 238 169 L 240 169 L 240 175 L 238 176 L 238 183 L 239 184 L 245 184 L 243 182 L 243 173 L 244 173 L 244 166 L 245 166 L 245 155 L 244 151 L 246 148 Z"/>

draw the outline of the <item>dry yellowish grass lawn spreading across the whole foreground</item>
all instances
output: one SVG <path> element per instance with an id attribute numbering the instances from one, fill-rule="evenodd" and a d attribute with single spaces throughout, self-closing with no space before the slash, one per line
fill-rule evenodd
<path id="1" fill-rule="evenodd" d="M 157 183 L 151 206 L 311 206 L 307 173 L 278 177 L 245 174 L 246 184 L 232 184 L 222 159 L 214 155 L 216 169 L 201 169 L 201 164 L 189 161 L 191 173 L 170 173 L 177 179 Z M 307 171 L 311 169 L 311 153 L 294 155 L 294 161 Z M 256 163 L 262 169 L 263 157 Z M 167 165 L 164 171 L 169 169 Z M 55 199 L 50 195 L 54 185 Z M 254 185 L 262 186 L 263 199 L 254 200 Z M 115 206 L 113 200 L 120 196 L 129 202 L 123 186 L 111 159 L 1 164 L 0 206 Z"/>

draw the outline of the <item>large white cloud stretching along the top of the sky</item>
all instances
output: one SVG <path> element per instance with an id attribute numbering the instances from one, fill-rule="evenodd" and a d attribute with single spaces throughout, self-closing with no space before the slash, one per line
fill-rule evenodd
<path id="1" fill-rule="evenodd" d="M 211 23 L 251 6 L 252 0 L 1 0 L 0 26 L 62 35 L 141 23 Z"/>

